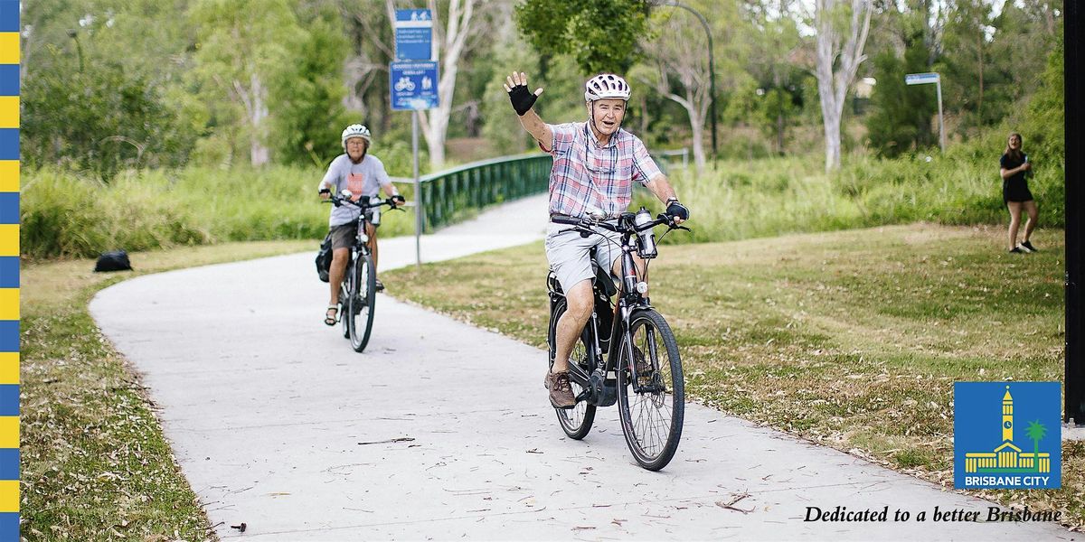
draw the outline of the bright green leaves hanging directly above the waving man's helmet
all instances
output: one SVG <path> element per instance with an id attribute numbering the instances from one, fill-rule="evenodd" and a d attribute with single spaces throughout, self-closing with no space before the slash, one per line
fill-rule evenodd
<path id="1" fill-rule="evenodd" d="M 584 74 L 626 73 L 648 35 L 647 0 L 526 0 L 516 25 L 541 54 L 570 54 Z"/>

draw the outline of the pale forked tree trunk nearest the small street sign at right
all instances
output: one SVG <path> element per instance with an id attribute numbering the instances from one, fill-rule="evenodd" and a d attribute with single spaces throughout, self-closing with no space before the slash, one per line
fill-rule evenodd
<path id="1" fill-rule="evenodd" d="M 840 168 L 840 120 L 847 89 L 866 56 L 871 0 L 816 0 L 818 95 L 825 124 L 825 169 Z"/>

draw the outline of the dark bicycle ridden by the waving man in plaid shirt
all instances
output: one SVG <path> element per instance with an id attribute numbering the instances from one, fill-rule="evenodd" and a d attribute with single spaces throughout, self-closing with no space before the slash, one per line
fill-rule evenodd
<path id="1" fill-rule="evenodd" d="M 584 237 L 599 235 L 596 228 L 620 233 L 622 249 L 622 291 L 616 304 L 611 302 L 618 293 L 611 271 L 596 266 L 592 255 L 595 308 L 569 357 L 569 380 L 576 404 L 570 409 L 554 409 L 558 422 L 565 435 L 579 440 L 591 430 L 596 409 L 616 402 L 622 433 L 634 459 L 643 468 L 659 470 L 678 450 L 686 389 L 678 343 L 666 320 L 644 297 L 648 283 L 638 275 L 633 253 L 643 259 L 647 276 L 648 262 L 658 254 L 652 229 L 666 224 L 668 229 L 663 235 L 672 230 L 689 229 L 675 224 L 665 214 L 653 220 L 643 207 L 636 214 L 622 214 L 614 224 L 562 216 L 551 220 L 573 225 L 563 232 L 577 231 Z M 547 289 L 550 298 L 547 343 L 552 367 L 557 350 L 556 327 L 566 309 L 565 296 L 553 270 L 547 276 Z"/>

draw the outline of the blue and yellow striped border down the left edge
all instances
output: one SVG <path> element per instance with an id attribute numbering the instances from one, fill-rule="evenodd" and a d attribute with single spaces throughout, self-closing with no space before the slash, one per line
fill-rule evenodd
<path id="1" fill-rule="evenodd" d="M 18 540 L 18 47 L 0 0 L 0 541 Z"/>

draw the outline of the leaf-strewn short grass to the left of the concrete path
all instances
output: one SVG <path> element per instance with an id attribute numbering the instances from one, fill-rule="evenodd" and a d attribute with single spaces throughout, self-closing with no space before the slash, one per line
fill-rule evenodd
<path id="1" fill-rule="evenodd" d="M 213 540 L 139 376 L 87 311 L 99 289 L 183 267 L 314 249 L 311 241 L 24 263 L 21 281 L 21 519 L 25 540 Z"/>

